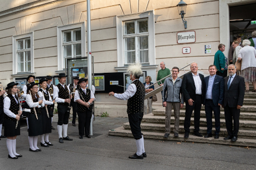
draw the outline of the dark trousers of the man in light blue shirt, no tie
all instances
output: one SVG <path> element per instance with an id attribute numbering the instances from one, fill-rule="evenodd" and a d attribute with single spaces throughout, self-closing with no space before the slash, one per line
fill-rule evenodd
<path id="1" fill-rule="evenodd" d="M 220 106 L 215 106 L 211 99 L 205 100 L 205 115 L 207 121 L 207 133 L 212 133 L 212 111 L 215 118 L 215 134 L 220 132 Z"/>

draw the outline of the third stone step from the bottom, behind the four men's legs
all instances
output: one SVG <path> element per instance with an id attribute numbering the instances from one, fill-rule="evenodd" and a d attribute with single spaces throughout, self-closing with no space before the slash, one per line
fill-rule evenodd
<path id="1" fill-rule="evenodd" d="M 180 117 L 180 124 L 183 124 L 185 121 L 185 117 Z M 143 116 L 142 122 L 154 122 L 154 123 L 165 123 L 165 117 L 164 116 L 154 116 L 153 114 L 147 114 Z M 214 124 L 215 120 L 214 118 L 212 119 L 212 122 Z M 174 123 L 174 117 L 171 116 L 171 124 Z M 191 126 L 194 125 L 194 117 L 191 117 L 190 121 Z M 200 118 L 200 125 L 206 126 L 206 118 Z M 220 126 L 221 127 L 226 127 L 225 120 L 221 119 L 220 120 Z M 245 121 L 245 120 L 240 120 L 239 121 L 239 127 L 241 129 L 254 129 L 256 130 L 256 121 Z"/>

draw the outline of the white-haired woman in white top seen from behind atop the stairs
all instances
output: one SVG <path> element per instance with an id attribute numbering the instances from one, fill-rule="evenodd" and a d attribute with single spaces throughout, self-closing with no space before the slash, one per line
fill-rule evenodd
<path id="1" fill-rule="evenodd" d="M 256 92 L 256 49 L 250 46 L 248 39 L 243 41 L 243 48 L 239 51 L 238 60 L 242 61 L 241 76 L 245 82 L 245 92 L 249 92 L 249 82 L 252 82 L 253 91 Z"/>

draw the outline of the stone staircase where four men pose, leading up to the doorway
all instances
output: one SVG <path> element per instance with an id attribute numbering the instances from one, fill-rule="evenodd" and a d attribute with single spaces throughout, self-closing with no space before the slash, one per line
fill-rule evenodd
<path id="1" fill-rule="evenodd" d="M 224 109 L 221 108 L 220 114 L 220 138 L 214 139 L 214 115 L 213 115 L 213 137 L 212 138 L 204 138 L 204 137 L 196 137 L 193 135 L 194 131 L 194 113 L 191 117 L 191 126 L 189 138 L 185 139 L 184 137 L 184 120 L 185 120 L 185 107 L 180 110 L 180 130 L 179 137 L 174 138 L 173 136 L 173 126 L 174 126 L 174 116 L 172 114 L 171 117 L 171 134 L 169 138 L 165 139 L 165 108 L 159 108 L 153 111 L 151 114 L 147 114 L 143 116 L 143 120 L 141 122 L 141 130 L 144 138 L 150 139 L 159 139 L 159 140 L 174 140 L 174 141 L 190 141 L 190 142 L 203 142 L 203 143 L 217 143 L 222 145 L 234 145 L 234 146 L 249 146 L 256 147 L 256 93 L 251 92 L 245 93 L 244 104 L 241 108 L 240 119 L 239 119 L 239 132 L 238 132 L 238 140 L 236 142 L 231 142 L 230 140 L 223 140 L 223 137 L 227 136 L 226 124 L 225 124 L 225 115 Z M 201 118 L 200 118 L 200 131 L 203 135 L 206 135 L 206 117 L 204 106 L 201 109 Z M 129 122 L 123 124 L 123 126 L 110 130 L 109 135 L 119 135 L 126 137 L 133 137 Z"/>

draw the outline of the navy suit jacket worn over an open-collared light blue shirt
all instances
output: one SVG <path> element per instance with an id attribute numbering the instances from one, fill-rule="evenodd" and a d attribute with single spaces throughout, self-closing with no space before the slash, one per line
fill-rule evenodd
<path id="1" fill-rule="evenodd" d="M 208 90 L 208 82 L 209 82 L 210 75 L 204 78 L 204 89 L 205 89 L 205 96 L 204 96 L 204 104 L 206 99 L 206 94 Z M 219 104 L 223 104 L 224 98 L 224 79 L 219 75 L 215 75 L 213 85 L 212 85 L 212 101 L 215 106 Z"/>

